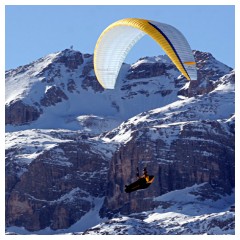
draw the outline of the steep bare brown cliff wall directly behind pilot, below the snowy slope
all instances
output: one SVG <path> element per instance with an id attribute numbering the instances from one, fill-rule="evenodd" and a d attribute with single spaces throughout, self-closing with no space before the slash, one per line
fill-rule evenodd
<path id="1" fill-rule="evenodd" d="M 178 138 L 170 144 L 165 139 Z M 158 138 L 149 139 L 150 135 Z M 193 140 L 194 139 L 194 140 Z M 136 180 L 136 168 L 147 166 L 155 176 L 148 191 L 124 192 Z M 166 128 L 138 129 L 114 154 L 102 216 L 128 215 L 154 209 L 150 201 L 167 192 L 207 182 L 213 191 L 230 194 L 235 186 L 234 134 L 217 121 L 199 121 Z"/>

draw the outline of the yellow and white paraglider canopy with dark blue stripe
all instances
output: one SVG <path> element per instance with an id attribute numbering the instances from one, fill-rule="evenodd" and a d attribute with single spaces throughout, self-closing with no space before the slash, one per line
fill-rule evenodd
<path id="1" fill-rule="evenodd" d="M 109 25 L 102 32 L 95 46 L 94 70 L 99 83 L 104 88 L 114 89 L 124 59 L 145 34 L 163 48 L 188 80 L 197 79 L 192 50 L 179 30 L 165 23 L 126 18 Z"/>

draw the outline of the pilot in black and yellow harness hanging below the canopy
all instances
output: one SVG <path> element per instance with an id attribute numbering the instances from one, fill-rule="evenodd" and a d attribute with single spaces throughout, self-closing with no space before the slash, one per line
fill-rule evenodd
<path id="1" fill-rule="evenodd" d="M 137 191 L 140 189 L 148 188 L 154 180 L 154 176 L 148 175 L 146 168 L 143 169 L 142 176 L 139 176 L 139 170 L 137 168 L 137 177 L 138 177 L 137 181 L 131 183 L 130 185 L 125 185 L 126 193 L 130 193 L 130 192 L 134 192 L 134 191 Z"/>

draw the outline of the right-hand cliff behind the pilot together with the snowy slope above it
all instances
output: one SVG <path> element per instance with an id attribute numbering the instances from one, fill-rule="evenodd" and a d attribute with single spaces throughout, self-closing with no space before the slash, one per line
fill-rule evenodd
<path id="1" fill-rule="evenodd" d="M 124 144 L 111 162 L 111 181 L 102 216 L 153 209 L 156 202 L 149 198 L 194 183 L 208 182 L 220 194 L 231 193 L 235 186 L 233 119 L 219 122 L 216 116 L 230 117 L 234 112 L 233 105 L 230 107 L 234 102 L 234 82 L 232 72 L 220 78 L 218 87 L 209 95 L 142 113 L 106 135 L 112 141 L 121 136 Z M 223 89 L 228 97 L 222 95 Z M 208 120 L 199 118 L 204 115 Z M 124 185 L 136 179 L 135 169 L 146 166 L 155 176 L 151 188 L 133 193 L 134 197 L 126 195 Z"/>

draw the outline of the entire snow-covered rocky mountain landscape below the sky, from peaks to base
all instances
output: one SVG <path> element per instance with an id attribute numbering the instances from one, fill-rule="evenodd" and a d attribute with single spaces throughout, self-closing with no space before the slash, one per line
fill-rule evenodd
<path id="1" fill-rule="evenodd" d="M 145 57 L 115 90 L 69 49 L 6 71 L 7 232 L 234 234 L 235 72 L 194 56 L 197 81 Z"/>

